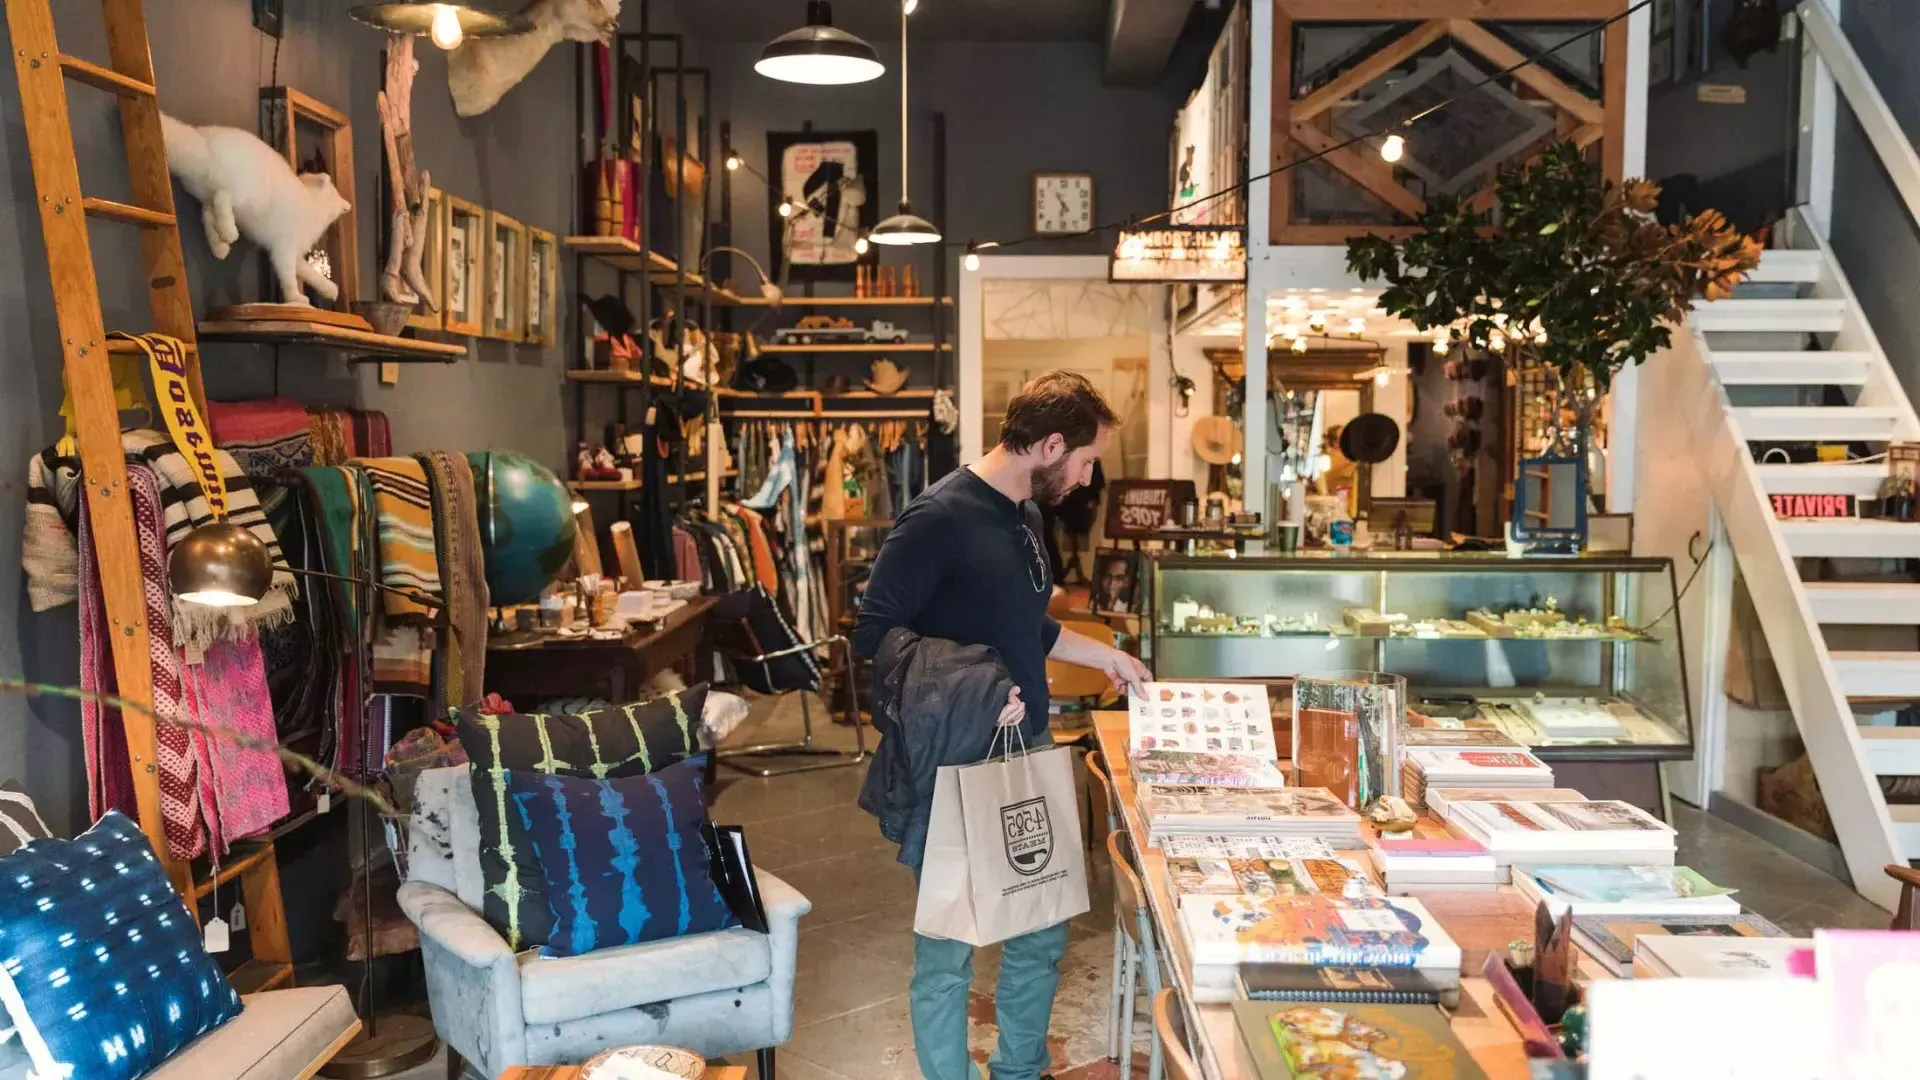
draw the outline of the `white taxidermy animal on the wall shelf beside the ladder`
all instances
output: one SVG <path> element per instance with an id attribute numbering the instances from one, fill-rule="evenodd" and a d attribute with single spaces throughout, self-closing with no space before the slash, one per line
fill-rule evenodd
<path id="1" fill-rule="evenodd" d="M 309 304 L 301 284 L 328 304 L 340 288 L 307 265 L 307 252 L 353 206 L 326 173 L 300 173 L 273 146 L 238 127 L 194 127 L 159 115 L 167 169 L 200 200 L 207 246 L 225 259 L 244 233 L 267 252 L 282 304 Z"/>

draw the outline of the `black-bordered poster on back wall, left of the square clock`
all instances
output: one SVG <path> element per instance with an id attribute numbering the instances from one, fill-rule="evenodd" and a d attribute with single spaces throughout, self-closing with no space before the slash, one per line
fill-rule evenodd
<path id="1" fill-rule="evenodd" d="M 776 281 L 852 282 L 858 263 L 874 265 L 879 252 L 854 252 L 854 240 L 893 213 L 879 198 L 879 136 L 872 131 L 770 131 L 766 160 L 768 250 Z M 787 202 L 793 213 L 780 215 Z"/>

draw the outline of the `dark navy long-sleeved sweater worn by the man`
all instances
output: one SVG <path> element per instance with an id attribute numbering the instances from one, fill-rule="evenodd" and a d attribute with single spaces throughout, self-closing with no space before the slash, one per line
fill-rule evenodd
<path id="1" fill-rule="evenodd" d="M 1041 509 L 1016 503 L 972 469 L 954 469 L 893 523 L 860 601 L 852 642 L 879 651 L 887 630 L 991 646 L 1027 703 L 1027 742 L 1046 734 L 1046 653 L 1060 623 L 1046 615 L 1054 582 Z M 993 717 L 981 717 L 993 723 Z"/>

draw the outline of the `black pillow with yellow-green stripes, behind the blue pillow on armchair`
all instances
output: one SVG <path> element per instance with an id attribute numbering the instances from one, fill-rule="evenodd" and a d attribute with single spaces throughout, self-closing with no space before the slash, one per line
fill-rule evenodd
<path id="1" fill-rule="evenodd" d="M 480 811 L 482 915 L 509 947 L 545 945 L 553 911 L 526 826 L 507 813 L 507 773 L 605 780 L 664 769 L 699 753 L 705 705 L 703 682 L 653 701 L 572 715 L 470 709 L 455 715 Z"/>

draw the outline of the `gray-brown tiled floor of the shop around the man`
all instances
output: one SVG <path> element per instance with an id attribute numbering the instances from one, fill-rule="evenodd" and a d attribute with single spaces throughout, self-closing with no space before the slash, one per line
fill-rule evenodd
<path id="1" fill-rule="evenodd" d="M 820 717 L 820 709 L 814 709 Z M 797 707 L 756 707 L 733 742 L 787 740 L 797 734 Z M 851 746 L 852 732 L 822 724 L 829 746 Z M 714 821 L 745 824 L 755 863 L 812 899 L 801 920 L 793 1040 L 780 1049 L 783 1080 L 908 1080 L 920 1070 L 908 1024 L 912 978 L 914 878 L 895 861 L 874 819 L 856 805 L 864 767 L 753 778 L 722 769 Z M 1740 899 L 1789 934 L 1814 926 L 1885 926 L 1887 915 L 1824 872 L 1778 851 L 1732 824 L 1676 805 L 1680 861 L 1709 880 L 1738 888 Z M 1112 899 L 1106 857 L 1094 857 L 1092 913 L 1073 924 L 1052 1019 L 1052 1068 L 1060 1080 L 1108 1080 L 1108 984 L 1112 980 Z M 973 1057 L 993 1049 L 993 978 L 996 949 L 973 965 Z M 1146 1017 L 1135 1024 L 1133 1072 L 1146 1070 Z M 739 1059 L 751 1065 L 751 1055 Z M 444 1067 L 424 1067 L 413 1080 L 440 1080 Z"/>

